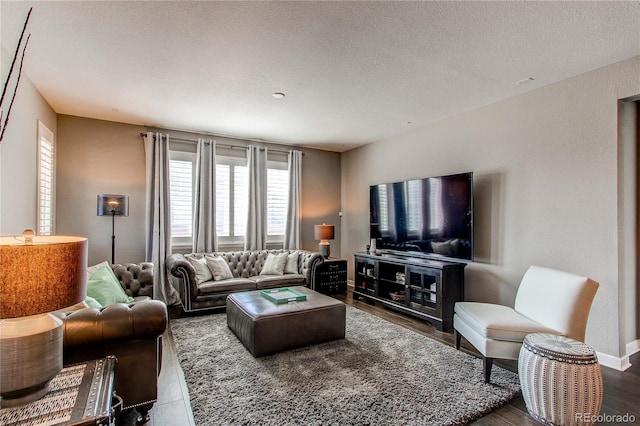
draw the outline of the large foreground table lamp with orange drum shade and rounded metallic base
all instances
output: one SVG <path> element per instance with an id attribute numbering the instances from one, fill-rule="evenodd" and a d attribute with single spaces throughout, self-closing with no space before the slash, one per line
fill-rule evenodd
<path id="1" fill-rule="evenodd" d="M 62 321 L 86 297 L 87 239 L 0 237 L 0 407 L 42 397 L 62 369 Z"/>

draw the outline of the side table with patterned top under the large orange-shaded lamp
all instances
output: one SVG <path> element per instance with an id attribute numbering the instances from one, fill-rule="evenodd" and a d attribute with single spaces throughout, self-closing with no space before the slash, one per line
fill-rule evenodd
<path id="1" fill-rule="evenodd" d="M 109 356 L 63 368 L 42 398 L 0 409 L 0 425 L 111 425 L 115 364 Z"/>

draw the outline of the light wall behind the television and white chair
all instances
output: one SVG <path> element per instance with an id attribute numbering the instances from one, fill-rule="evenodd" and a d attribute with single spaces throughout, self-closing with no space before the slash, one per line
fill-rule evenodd
<path id="1" fill-rule="evenodd" d="M 473 171 L 465 298 L 512 304 L 532 264 L 587 275 L 587 343 L 622 357 L 617 109 L 638 93 L 640 57 L 343 154 L 343 256 L 369 239 L 369 185 Z"/>

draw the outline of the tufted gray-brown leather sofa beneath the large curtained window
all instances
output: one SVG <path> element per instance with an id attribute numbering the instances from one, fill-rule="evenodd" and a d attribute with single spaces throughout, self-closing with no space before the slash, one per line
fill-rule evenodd
<path id="1" fill-rule="evenodd" d="M 167 258 L 168 274 L 177 282 L 180 301 L 185 312 L 226 308 L 227 296 L 239 291 L 302 285 L 314 288 L 315 268 L 324 261 L 318 252 L 297 250 L 298 273 L 260 275 L 269 253 L 291 253 L 294 250 L 259 250 L 215 253 L 172 254 Z M 198 282 L 196 271 L 187 258 L 221 256 L 231 269 L 233 278 Z"/>

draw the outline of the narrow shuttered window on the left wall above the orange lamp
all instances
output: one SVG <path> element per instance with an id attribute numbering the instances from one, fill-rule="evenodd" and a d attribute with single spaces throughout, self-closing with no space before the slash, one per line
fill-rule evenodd
<path id="1" fill-rule="evenodd" d="M 52 235 L 54 229 L 54 154 L 53 132 L 38 121 L 38 234 Z"/>

